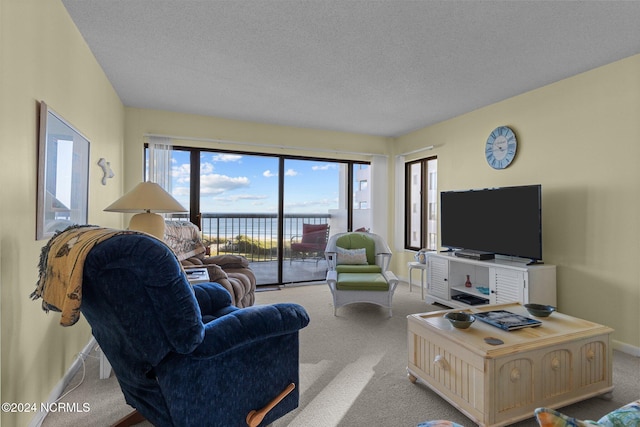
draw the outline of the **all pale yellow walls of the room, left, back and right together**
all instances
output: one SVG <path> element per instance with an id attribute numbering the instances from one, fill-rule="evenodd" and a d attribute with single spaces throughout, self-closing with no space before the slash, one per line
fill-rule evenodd
<path id="1" fill-rule="evenodd" d="M 640 55 L 505 99 L 417 131 L 389 138 L 323 131 L 123 105 L 62 2 L 2 0 L 2 110 L 5 165 L 0 172 L 1 376 L 3 402 L 44 402 L 91 337 L 86 322 L 63 328 L 28 296 L 37 280 L 35 240 L 38 103 L 44 100 L 91 141 L 89 222 L 126 227 L 103 209 L 141 180 L 148 133 L 260 141 L 273 146 L 388 156 L 433 145 L 438 186 L 466 189 L 540 183 L 544 261 L 557 266 L 558 307 L 615 330 L 614 348 L 640 356 Z M 512 166 L 495 171 L 484 143 L 497 126 L 519 136 Z M 9 132 L 9 130 L 11 132 Z M 200 144 L 206 144 L 201 142 Z M 345 148 L 348 147 L 348 148 Z M 224 147 L 220 147 L 224 148 Z M 414 156 L 414 157 L 412 157 Z M 424 152 L 407 155 L 407 160 Z M 115 176 L 100 185 L 100 158 Z M 402 200 L 389 187 L 390 198 Z M 395 203 L 388 231 L 395 241 Z M 391 269 L 404 275 L 413 252 L 396 251 Z M 2 414 L 2 424 L 27 425 L 33 414 Z"/>

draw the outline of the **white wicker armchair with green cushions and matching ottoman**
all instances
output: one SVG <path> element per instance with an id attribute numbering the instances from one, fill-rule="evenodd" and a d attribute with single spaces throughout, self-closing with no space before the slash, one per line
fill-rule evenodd
<path id="1" fill-rule="evenodd" d="M 389 271 L 391 249 L 382 237 L 364 232 L 334 234 L 325 257 L 334 314 L 342 306 L 364 302 L 385 307 L 392 315 L 398 278 Z"/>

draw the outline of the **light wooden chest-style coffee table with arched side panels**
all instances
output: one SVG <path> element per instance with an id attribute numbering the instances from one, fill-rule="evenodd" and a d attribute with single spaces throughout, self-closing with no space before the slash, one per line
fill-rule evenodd
<path id="1" fill-rule="evenodd" d="M 424 382 L 481 426 L 512 424 L 533 417 L 535 408 L 560 408 L 613 390 L 612 329 L 558 312 L 537 318 L 541 326 L 511 332 L 480 320 L 455 329 L 443 317 L 489 310 L 533 318 L 517 303 L 409 315 L 410 381 Z"/>

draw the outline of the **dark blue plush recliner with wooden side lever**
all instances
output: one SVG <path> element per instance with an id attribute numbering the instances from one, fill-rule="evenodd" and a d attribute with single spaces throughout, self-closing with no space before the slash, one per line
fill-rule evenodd
<path id="1" fill-rule="evenodd" d="M 127 403 L 154 426 L 267 425 L 298 406 L 304 308 L 238 309 L 216 283 L 191 286 L 152 237 L 90 250 L 80 310 Z"/>

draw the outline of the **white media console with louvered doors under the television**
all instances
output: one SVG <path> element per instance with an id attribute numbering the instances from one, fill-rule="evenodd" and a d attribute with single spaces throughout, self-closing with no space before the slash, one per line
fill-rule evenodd
<path id="1" fill-rule="evenodd" d="M 452 308 L 508 302 L 556 306 L 555 265 L 503 258 L 481 261 L 454 252 L 430 252 L 427 257 L 427 302 Z M 467 276 L 471 287 L 465 286 Z"/>

